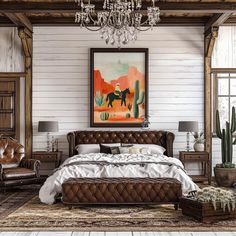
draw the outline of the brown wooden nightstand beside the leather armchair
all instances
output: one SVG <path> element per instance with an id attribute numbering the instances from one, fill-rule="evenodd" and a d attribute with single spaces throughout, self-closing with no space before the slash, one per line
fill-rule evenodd
<path id="1" fill-rule="evenodd" d="M 32 158 L 41 162 L 40 174 L 48 175 L 55 168 L 58 168 L 62 160 L 62 152 L 33 152 Z M 52 165 L 50 165 L 52 164 Z"/>

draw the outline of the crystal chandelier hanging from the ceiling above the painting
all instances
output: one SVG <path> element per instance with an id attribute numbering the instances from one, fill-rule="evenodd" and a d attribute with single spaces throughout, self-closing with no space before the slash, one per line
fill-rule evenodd
<path id="1" fill-rule="evenodd" d="M 142 0 L 104 0 L 103 10 L 96 10 L 90 0 L 87 3 L 84 0 L 75 2 L 80 7 L 75 22 L 90 31 L 100 31 L 106 44 L 117 44 L 118 47 L 137 40 L 140 31 L 147 31 L 160 21 L 160 10 L 155 6 L 155 0 L 146 11 L 141 10 Z"/>

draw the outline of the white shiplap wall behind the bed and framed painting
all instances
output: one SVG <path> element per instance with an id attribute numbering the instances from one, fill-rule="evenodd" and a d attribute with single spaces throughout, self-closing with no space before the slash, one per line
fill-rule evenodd
<path id="1" fill-rule="evenodd" d="M 33 147 L 46 145 L 37 122 L 58 120 L 56 137 L 67 155 L 66 134 L 89 129 L 89 48 L 106 45 L 98 33 L 79 27 L 35 27 L 33 45 Z M 149 48 L 151 128 L 176 134 L 176 156 L 185 147 L 178 121 L 198 120 L 203 127 L 203 28 L 155 28 L 129 47 Z"/>

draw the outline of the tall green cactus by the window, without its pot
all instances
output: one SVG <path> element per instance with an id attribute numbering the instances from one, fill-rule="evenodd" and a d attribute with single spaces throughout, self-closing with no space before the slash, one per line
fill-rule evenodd
<path id="1" fill-rule="evenodd" d="M 233 159 L 233 145 L 236 144 L 236 138 L 233 140 L 233 133 L 236 131 L 236 117 L 235 107 L 232 107 L 231 124 L 226 121 L 226 127 L 221 130 L 220 114 L 216 111 L 216 135 L 221 139 L 221 157 L 222 164 L 217 167 L 234 168 Z"/>

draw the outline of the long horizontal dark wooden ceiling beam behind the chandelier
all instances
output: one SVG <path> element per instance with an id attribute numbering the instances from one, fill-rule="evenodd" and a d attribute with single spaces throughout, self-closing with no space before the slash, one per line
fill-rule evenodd
<path id="1" fill-rule="evenodd" d="M 94 2 L 94 1 L 92 1 Z M 236 12 L 236 3 L 233 2 L 157 2 L 163 13 L 227 13 Z M 102 10 L 102 3 L 96 3 L 96 8 Z M 150 6 L 150 2 L 143 2 L 143 9 Z M 0 13 L 74 13 L 78 9 L 73 2 L 2 2 Z"/>

